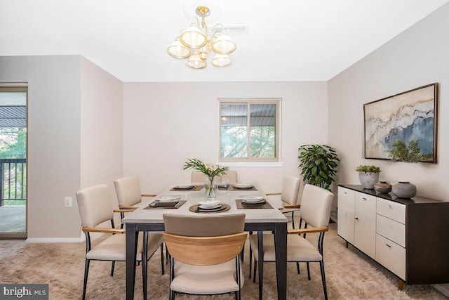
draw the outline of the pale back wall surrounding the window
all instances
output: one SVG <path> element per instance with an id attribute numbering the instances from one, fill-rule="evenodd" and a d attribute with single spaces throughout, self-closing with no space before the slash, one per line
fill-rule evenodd
<path id="1" fill-rule="evenodd" d="M 144 193 L 188 183 L 187 158 L 217 163 L 217 98 L 282 98 L 282 167 L 230 167 L 265 193 L 300 175 L 300 145 L 327 143 L 326 82 L 125 83 L 123 95 L 123 174 L 138 175 Z"/>

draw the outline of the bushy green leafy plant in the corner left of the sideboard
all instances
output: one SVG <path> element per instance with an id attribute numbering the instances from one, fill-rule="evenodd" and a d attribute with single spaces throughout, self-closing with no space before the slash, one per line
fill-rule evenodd
<path id="1" fill-rule="evenodd" d="M 337 171 L 337 152 L 328 145 L 302 145 L 298 148 L 304 181 L 330 190 Z"/>

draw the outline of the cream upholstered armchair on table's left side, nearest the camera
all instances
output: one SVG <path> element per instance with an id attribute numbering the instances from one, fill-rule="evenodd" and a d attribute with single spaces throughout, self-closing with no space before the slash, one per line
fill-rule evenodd
<path id="1" fill-rule="evenodd" d="M 86 234 L 86 263 L 84 268 L 83 299 L 86 297 L 87 279 L 91 261 L 112 261 L 111 276 L 116 261 L 126 261 L 126 235 L 122 228 L 114 226 L 114 207 L 106 184 L 84 188 L 76 193 L 82 230 Z M 110 221 L 110 226 L 99 227 Z M 112 234 L 99 243 L 91 241 L 91 233 Z M 147 242 L 145 242 L 145 240 Z M 138 238 L 137 261 L 142 261 L 144 299 L 147 299 L 147 261 L 156 249 L 161 247 L 161 234 L 140 234 Z M 149 255 L 148 255 L 149 254 Z M 162 258 L 163 259 L 163 258 Z M 163 261 L 162 261 L 163 266 Z"/>

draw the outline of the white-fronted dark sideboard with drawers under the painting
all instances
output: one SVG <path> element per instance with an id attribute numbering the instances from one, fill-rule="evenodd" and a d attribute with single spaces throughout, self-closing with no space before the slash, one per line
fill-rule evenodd
<path id="1" fill-rule="evenodd" d="M 407 284 L 449 282 L 449 202 L 338 186 L 337 234 Z"/>

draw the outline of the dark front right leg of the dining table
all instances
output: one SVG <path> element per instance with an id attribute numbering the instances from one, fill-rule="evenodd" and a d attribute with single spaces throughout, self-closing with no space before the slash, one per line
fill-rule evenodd
<path id="1" fill-rule="evenodd" d="M 276 246 L 276 278 L 278 299 L 287 299 L 287 223 L 274 226 L 274 244 Z"/>

